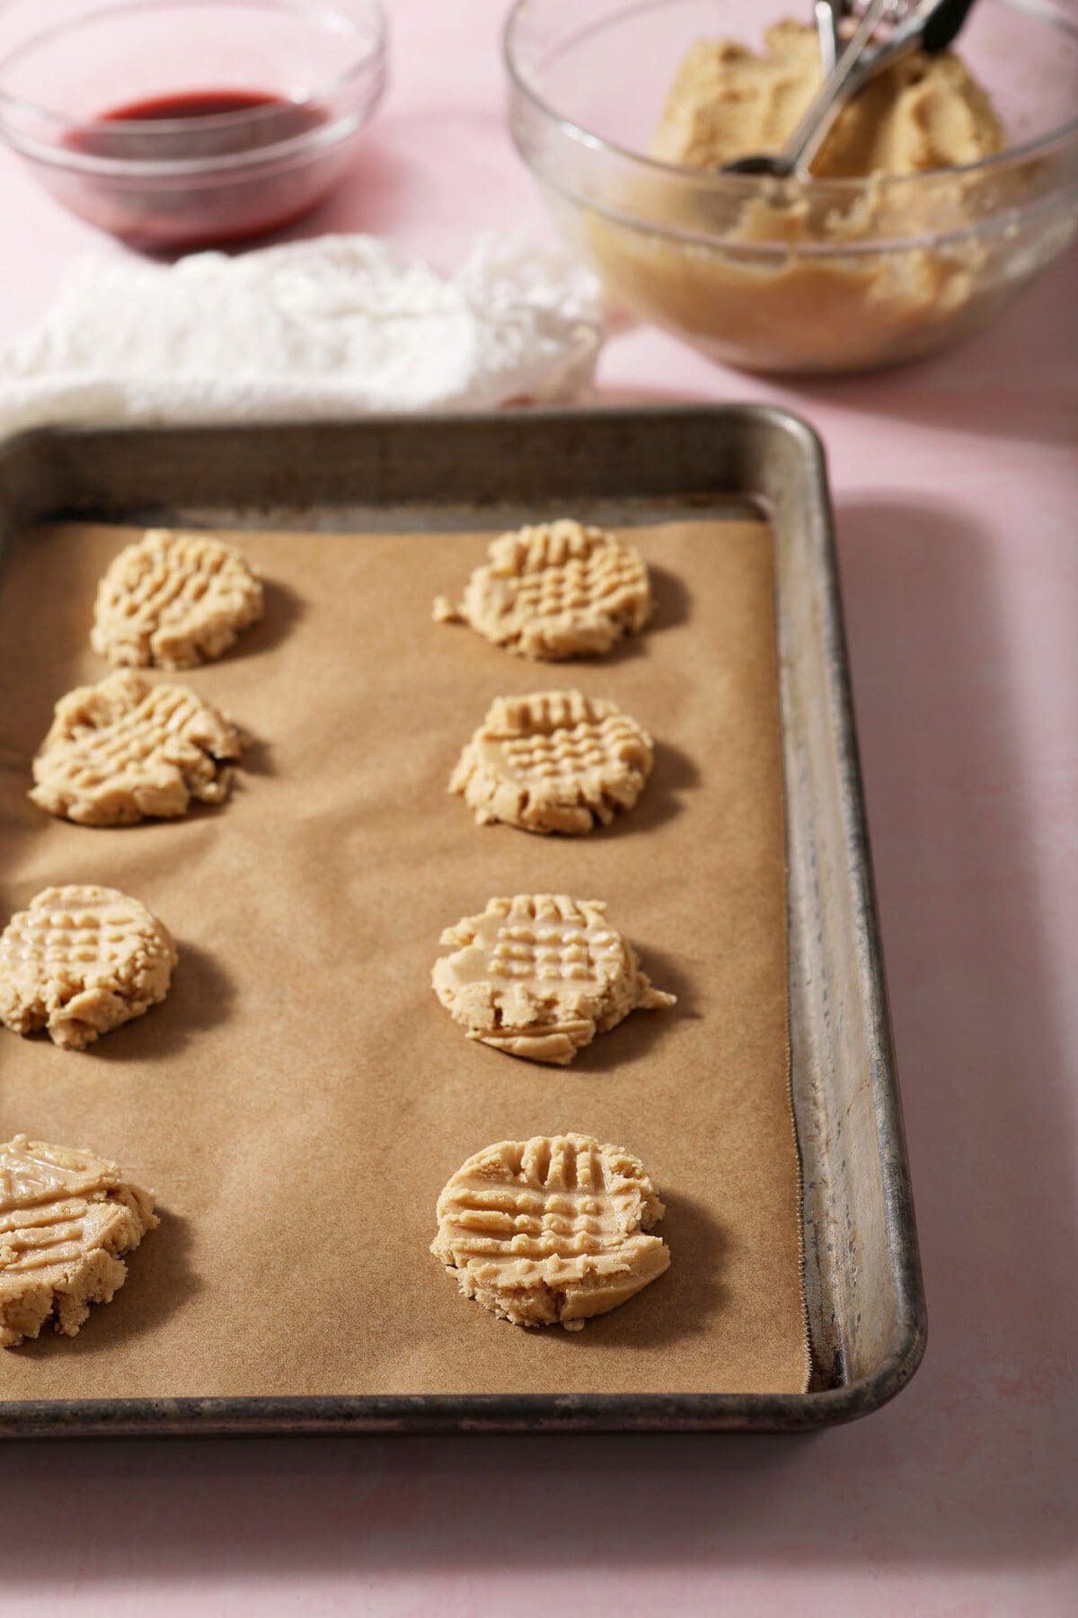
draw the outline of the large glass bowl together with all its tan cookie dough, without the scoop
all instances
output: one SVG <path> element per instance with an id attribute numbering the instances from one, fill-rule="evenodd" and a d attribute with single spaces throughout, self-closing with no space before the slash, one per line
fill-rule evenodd
<path id="1" fill-rule="evenodd" d="M 748 371 L 915 359 L 1078 230 L 1078 19 L 1052 0 L 978 0 L 954 52 L 881 74 L 787 181 L 721 167 L 777 150 L 819 84 L 789 0 L 580 0 L 572 19 L 528 0 L 507 61 L 517 146 L 609 298 Z"/>

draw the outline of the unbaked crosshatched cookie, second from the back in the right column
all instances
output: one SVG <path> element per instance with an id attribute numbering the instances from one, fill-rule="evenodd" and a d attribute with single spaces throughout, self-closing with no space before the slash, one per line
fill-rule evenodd
<path id="1" fill-rule="evenodd" d="M 579 691 L 498 697 L 449 780 L 480 825 L 590 832 L 632 809 L 651 773 L 651 738 L 614 702 Z"/>

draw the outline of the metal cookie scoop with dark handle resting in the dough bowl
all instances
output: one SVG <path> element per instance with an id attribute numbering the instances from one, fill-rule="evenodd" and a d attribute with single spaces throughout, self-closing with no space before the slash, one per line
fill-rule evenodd
<path id="1" fill-rule="evenodd" d="M 821 0 L 821 3 L 827 3 L 827 0 Z M 894 66 L 913 50 L 924 50 L 928 55 L 945 50 L 957 37 L 971 8 L 973 0 L 928 0 L 928 3 L 920 5 L 913 0 L 912 5 L 900 8 L 895 6 L 894 0 L 868 0 L 845 49 L 839 53 L 832 71 L 824 78 L 811 107 L 782 150 L 758 157 L 739 157 L 735 163 L 724 163 L 721 173 L 773 175 L 776 180 L 806 173 L 824 136 L 847 102 L 853 100 L 857 92 L 878 73 Z M 831 10 L 834 8 L 831 6 Z M 873 34 L 884 16 L 894 19 L 894 28 L 882 44 L 873 45 Z M 821 23 L 819 8 L 816 21 Z"/>

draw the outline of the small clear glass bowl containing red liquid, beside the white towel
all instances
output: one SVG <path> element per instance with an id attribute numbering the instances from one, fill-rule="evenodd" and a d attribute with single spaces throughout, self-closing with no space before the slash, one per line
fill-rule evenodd
<path id="1" fill-rule="evenodd" d="M 21 11 L 0 36 L 0 134 L 65 207 L 149 251 L 242 241 L 307 212 L 385 87 L 373 0 Z"/>

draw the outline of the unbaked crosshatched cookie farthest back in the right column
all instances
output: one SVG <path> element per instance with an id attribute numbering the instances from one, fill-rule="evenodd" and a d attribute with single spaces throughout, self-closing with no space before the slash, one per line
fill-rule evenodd
<path id="1" fill-rule="evenodd" d="M 651 616 L 648 570 L 630 545 L 601 527 L 562 519 L 495 539 L 454 607 L 435 602 L 440 623 L 462 620 L 520 657 L 595 657 Z"/>

